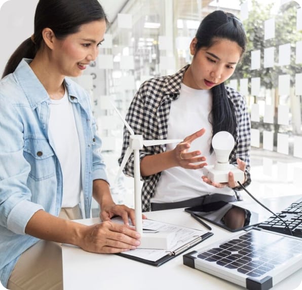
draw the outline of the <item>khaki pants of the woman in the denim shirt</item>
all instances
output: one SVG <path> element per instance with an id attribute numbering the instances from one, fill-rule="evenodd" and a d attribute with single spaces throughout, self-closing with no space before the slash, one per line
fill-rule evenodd
<path id="1" fill-rule="evenodd" d="M 59 217 L 66 220 L 82 219 L 79 206 L 62 208 Z M 18 260 L 7 284 L 10 290 L 62 290 L 61 244 L 40 240 Z"/>

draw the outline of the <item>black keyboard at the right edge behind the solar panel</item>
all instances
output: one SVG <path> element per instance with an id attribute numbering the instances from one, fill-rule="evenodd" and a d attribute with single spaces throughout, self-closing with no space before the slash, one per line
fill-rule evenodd
<path id="1" fill-rule="evenodd" d="M 276 214 L 286 222 L 293 236 L 302 238 L 302 198 Z M 271 216 L 267 221 L 257 225 L 257 227 L 290 235 L 288 228 L 275 215 Z"/>

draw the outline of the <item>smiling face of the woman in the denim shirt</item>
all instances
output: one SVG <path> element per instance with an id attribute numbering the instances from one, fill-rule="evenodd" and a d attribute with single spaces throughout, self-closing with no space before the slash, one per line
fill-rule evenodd
<path id="1" fill-rule="evenodd" d="M 98 55 L 98 46 L 104 40 L 105 20 L 96 20 L 80 26 L 76 33 L 65 39 L 55 38 L 52 49 L 52 65 L 60 75 L 78 77 Z"/>

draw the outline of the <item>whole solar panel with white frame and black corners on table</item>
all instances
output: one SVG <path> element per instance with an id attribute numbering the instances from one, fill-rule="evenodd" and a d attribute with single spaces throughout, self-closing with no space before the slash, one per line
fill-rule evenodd
<path id="1" fill-rule="evenodd" d="M 252 228 L 187 253 L 183 264 L 247 289 L 270 289 L 302 267 L 302 240 Z"/>

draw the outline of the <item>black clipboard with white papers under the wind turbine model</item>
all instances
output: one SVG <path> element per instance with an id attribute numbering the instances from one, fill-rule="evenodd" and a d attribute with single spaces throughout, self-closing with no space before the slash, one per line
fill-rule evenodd
<path id="1" fill-rule="evenodd" d="M 112 219 L 112 222 L 117 222 L 117 220 Z M 187 249 L 192 248 L 213 235 L 211 232 L 167 224 L 154 220 L 143 220 L 143 229 L 175 232 L 175 244 L 173 244 L 173 246 L 171 246 L 171 248 L 168 250 L 138 248 L 129 250 L 127 252 L 117 253 L 116 255 L 151 266 L 159 267 L 169 260 L 177 257 Z"/>

